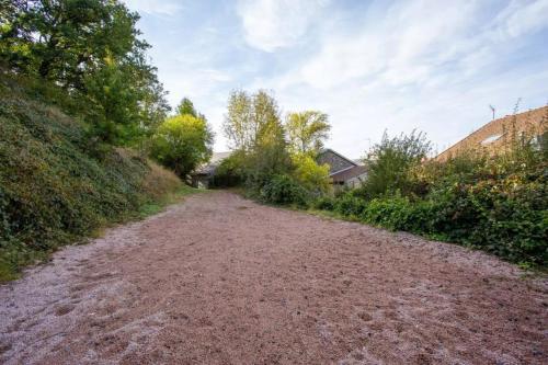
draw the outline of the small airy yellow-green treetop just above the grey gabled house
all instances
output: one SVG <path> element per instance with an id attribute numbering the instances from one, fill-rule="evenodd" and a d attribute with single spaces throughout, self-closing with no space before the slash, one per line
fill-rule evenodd
<path id="1" fill-rule="evenodd" d="M 329 138 L 328 115 L 317 111 L 289 113 L 285 123 L 289 145 L 295 152 L 317 153 Z"/>

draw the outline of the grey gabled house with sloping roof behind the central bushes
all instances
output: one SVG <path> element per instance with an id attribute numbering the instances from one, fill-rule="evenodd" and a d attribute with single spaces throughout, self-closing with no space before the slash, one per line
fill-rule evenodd
<path id="1" fill-rule="evenodd" d="M 332 179 L 335 189 L 358 187 L 367 179 L 367 169 L 365 166 L 330 148 L 326 148 L 318 153 L 317 162 L 319 164 L 329 164 L 329 176 Z"/>

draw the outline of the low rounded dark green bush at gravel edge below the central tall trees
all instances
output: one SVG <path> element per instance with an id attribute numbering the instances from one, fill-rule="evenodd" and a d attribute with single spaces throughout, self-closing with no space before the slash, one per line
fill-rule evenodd
<path id="1" fill-rule="evenodd" d="M 261 189 L 260 197 L 266 203 L 306 206 L 308 191 L 288 175 L 274 175 Z"/>

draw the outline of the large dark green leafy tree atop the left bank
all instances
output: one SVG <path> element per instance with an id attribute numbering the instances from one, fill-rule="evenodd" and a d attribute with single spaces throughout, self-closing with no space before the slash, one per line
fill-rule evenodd
<path id="1" fill-rule="evenodd" d="M 133 144 L 164 118 L 169 106 L 146 61 L 149 46 L 138 39 L 139 16 L 122 2 L 13 1 L 0 16 L 0 65 L 62 90 L 61 99 L 75 100 L 65 111 L 84 117 L 92 138 Z"/>

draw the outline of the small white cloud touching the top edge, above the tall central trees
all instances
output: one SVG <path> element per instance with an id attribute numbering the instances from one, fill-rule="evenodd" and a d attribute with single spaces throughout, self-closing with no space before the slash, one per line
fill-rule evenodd
<path id="1" fill-rule="evenodd" d="M 295 45 L 327 3 L 327 0 L 240 0 L 237 12 L 246 42 L 272 53 Z"/>

